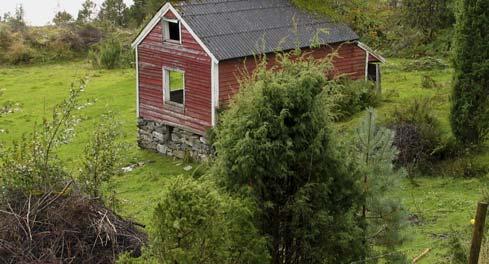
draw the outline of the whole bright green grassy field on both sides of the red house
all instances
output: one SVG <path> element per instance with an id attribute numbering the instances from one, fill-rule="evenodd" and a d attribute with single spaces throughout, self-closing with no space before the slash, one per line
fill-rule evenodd
<path id="1" fill-rule="evenodd" d="M 409 99 L 429 96 L 434 98 L 436 115 L 448 136 L 450 71 L 402 72 L 401 62 L 391 60 L 384 71 L 384 93 L 390 96 L 379 108 L 380 119 L 394 107 L 405 105 Z M 422 74 L 434 77 L 440 88 L 420 88 Z M 0 68 L 0 89 L 6 89 L 0 102 L 12 100 L 23 104 L 21 112 L 0 118 L 0 129 L 9 130 L 7 134 L 0 134 L 0 141 L 19 139 L 22 133 L 30 131 L 33 123 L 39 121 L 46 112 L 44 109 L 50 109 L 66 96 L 73 80 L 87 75 L 90 83 L 84 98 L 95 99 L 96 102 L 79 112 L 82 122 L 78 126 L 78 137 L 73 144 L 61 149 L 61 155 L 70 161 L 70 165 L 76 164 L 97 118 L 104 111 L 114 111 L 123 122 L 126 132 L 125 140 L 129 145 L 127 161 L 153 161 L 116 179 L 123 214 L 148 223 L 166 180 L 185 172 L 179 161 L 137 148 L 132 69 L 95 71 L 83 63 Z M 392 96 L 394 94 L 397 96 Z M 338 124 L 338 128 L 351 129 L 358 123 L 360 116 L 358 114 L 351 121 Z M 489 162 L 486 153 L 482 153 L 480 158 Z M 452 229 L 463 230 L 469 227 L 482 184 L 477 179 L 444 178 L 421 178 L 417 183 L 419 186 L 415 187 L 405 180 L 400 191 L 406 208 L 420 219 L 419 225 L 410 225 L 406 230 L 409 240 L 401 250 L 412 258 L 425 248 L 432 248 L 433 251 L 420 263 L 445 263 L 447 235 Z"/>

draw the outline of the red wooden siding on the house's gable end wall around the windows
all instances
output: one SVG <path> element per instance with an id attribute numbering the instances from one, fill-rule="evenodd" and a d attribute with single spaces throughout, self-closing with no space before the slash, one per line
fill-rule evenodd
<path id="1" fill-rule="evenodd" d="M 211 127 L 211 59 L 183 25 L 181 45 L 164 43 L 162 36 L 158 23 L 138 46 L 140 116 L 203 133 Z M 164 103 L 164 67 L 185 72 L 183 111 Z"/>

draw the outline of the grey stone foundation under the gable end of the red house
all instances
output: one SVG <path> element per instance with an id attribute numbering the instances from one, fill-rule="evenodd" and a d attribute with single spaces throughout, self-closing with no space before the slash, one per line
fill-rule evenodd
<path id="1" fill-rule="evenodd" d="M 204 136 L 158 122 L 138 119 L 138 145 L 169 157 L 206 160 L 212 148 Z"/>

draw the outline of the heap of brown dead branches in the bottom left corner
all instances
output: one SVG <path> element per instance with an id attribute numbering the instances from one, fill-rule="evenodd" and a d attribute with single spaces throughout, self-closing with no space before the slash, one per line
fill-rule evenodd
<path id="1" fill-rule="evenodd" d="M 0 263 L 114 263 L 141 254 L 146 235 L 98 199 L 10 194 L 0 205 Z"/>

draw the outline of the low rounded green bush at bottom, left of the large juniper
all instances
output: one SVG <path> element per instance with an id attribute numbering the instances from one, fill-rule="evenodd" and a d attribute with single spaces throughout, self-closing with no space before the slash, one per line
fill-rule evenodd
<path id="1" fill-rule="evenodd" d="M 153 216 L 145 263 L 266 263 L 266 241 L 249 201 L 222 195 L 208 180 L 172 180 Z"/>

